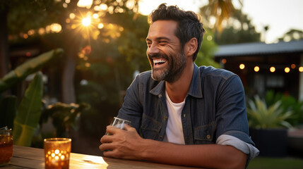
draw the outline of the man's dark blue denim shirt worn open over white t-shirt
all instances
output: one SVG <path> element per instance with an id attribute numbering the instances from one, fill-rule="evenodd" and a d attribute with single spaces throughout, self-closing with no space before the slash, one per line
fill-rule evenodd
<path id="1" fill-rule="evenodd" d="M 162 141 L 168 118 L 165 81 L 155 81 L 150 74 L 141 73 L 133 80 L 118 116 L 131 120 L 141 137 Z M 185 144 L 215 144 L 221 134 L 229 134 L 254 145 L 240 78 L 227 70 L 194 65 L 182 127 Z"/>

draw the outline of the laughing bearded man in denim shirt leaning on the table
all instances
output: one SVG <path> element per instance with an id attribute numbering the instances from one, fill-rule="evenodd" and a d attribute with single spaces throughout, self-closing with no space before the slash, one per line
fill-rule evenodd
<path id="1" fill-rule="evenodd" d="M 203 168 L 245 168 L 259 154 L 249 137 L 244 89 L 227 70 L 194 64 L 205 30 L 198 16 L 161 4 L 149 15 L 151 71 L 127 89 L 119 118 L 107 126 L 104 156 Z"/>

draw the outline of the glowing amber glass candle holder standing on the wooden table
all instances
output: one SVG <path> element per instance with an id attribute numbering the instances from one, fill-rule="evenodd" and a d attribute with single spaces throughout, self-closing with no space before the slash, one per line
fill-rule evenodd
<path id="1" fill-rule="evenodd" d="M 44 139 L 45 168 L 69 168 L 71 153 L 71 139 L 50 138 Z"/>

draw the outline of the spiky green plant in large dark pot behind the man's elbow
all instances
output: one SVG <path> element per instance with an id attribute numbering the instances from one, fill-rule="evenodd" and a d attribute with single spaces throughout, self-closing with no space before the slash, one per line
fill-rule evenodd
<path id="1" fill-rule="evenodd" d="M 286 120 L 292 111 L 285 111 L 280 100 L 268 106 L 259 96 L 248 101 L 246 110 L 251 139 L 259 149 L 259 155 L 286 156 L 287 128 L 292 126 Z"/>

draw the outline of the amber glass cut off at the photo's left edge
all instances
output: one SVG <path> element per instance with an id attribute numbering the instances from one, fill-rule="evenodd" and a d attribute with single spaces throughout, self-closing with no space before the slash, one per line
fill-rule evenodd
<path id="1" fill-rule="evenodd" d="M 0 128 L 0 166 L 7 165 L 13 156 L 13 136 L 8 127 Z"/>

